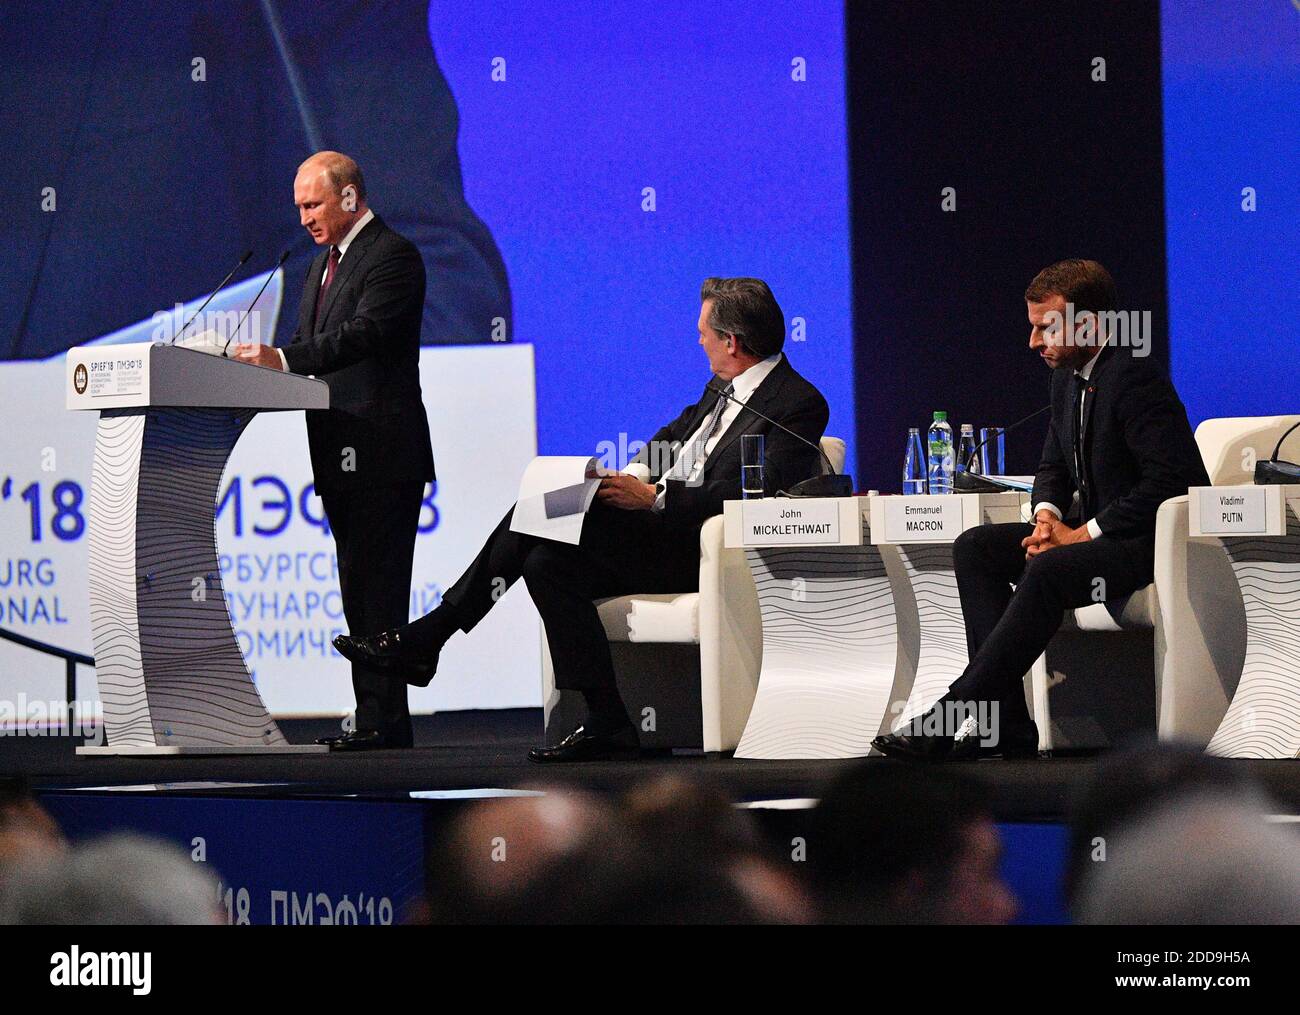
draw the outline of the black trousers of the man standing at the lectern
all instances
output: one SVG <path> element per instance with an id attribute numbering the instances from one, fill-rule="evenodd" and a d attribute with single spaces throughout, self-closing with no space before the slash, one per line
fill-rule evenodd
<path id="1" fill-rule="evenodd" d="M 338 550 L 343 616 L 352 634 L 378 634 L 411 616 L 411 563 L 424 482 L 321 490 Z M 373 729 L 395 747 L 411 746 L 407 685 L 352 664 L 356 728 Z"/>

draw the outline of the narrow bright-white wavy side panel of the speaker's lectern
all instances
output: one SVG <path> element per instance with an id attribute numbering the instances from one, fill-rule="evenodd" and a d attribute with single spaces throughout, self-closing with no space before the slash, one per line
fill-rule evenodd
<path id="1" fill-rule="evenodd" d="M 135 611 L 135 512 L 144 417 L 100 416 L 87 528 L 90 629 L 104 728 L 114 746 L 152 746 Z"/>

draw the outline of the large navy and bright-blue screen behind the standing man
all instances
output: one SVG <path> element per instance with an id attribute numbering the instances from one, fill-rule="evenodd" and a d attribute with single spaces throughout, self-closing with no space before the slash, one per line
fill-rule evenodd
<path id="1" fill-rule="evenodd" d="M 542 454 L 649 438 L 694 402 L 699 283 L 729 274 L 771 283 L 852 441 L 833 0 L 70 0 L 6 12 L 0 42 L 26 195 L 0 226 L 0 357 L 202 298 L 247 247 L 250 273 L 291 252 L 287 340 L 315 253 L 294 170 L 328 147 L 424 253 L 426 344 L 536 346 Z"/>

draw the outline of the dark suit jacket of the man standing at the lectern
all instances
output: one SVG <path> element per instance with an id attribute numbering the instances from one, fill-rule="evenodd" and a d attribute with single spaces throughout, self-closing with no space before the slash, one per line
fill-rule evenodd
<path id="1" fill-rule="evenodd" d="M 329 248 L 312 261 L 285 347 L 294 373 L 329 385 L 329 409 L 307 413 L 317 490 L 429 481 L 433 450 L 420 398 L 420 252 L 376 216 L 348 244 L 320 320 L 316 295 Z M 343 468 L 352 448 L 355 469 Z"/>

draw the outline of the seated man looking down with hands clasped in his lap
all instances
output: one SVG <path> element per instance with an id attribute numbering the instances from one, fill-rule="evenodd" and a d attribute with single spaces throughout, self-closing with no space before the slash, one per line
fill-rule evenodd
<path id="1" fill-rule="evenodd" d="M 1053 370 L 1034 524 L 982 525 L 957 538 L 970 663 L 930 712 L 875 739 L 890 756 L 1034 756 L 1039 733 L 1023 677 L 1065 611 L 1149 585 L 1156 511 L 1209 485 L 1187 411 L 1147 355 L 1150 337 L 1131 342 L 1130 326 L 1121 342 L 1112 328 L 1110 273 L 1096 261 L 1060 261 L 1039 272 L 1024 300 L 1030 348 Z"/>

